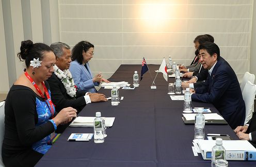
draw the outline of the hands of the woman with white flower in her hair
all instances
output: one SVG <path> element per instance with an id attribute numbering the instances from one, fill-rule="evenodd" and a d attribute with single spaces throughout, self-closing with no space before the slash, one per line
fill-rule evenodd
<path id="1" fill-rule="evenodd" d="M 54 117 L 53 121 L 58 126 L 59 124 L 65 124 L 70 122 L 72 118 L 76 117 L 77 110 L 72 107 L 63 108 L 59 113 Z"/>

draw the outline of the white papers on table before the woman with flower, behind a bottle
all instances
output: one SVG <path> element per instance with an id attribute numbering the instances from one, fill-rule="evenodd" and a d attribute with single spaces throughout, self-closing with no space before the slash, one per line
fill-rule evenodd
<path id="1" fill-rule="evenodd" d="M 102 117 L 105 120 L 106 127 L 111 127 L 114 124 L 115 117 Z M 77 116 L 69 125 L 71 127 L 93 127 L 94 116 Z"/>

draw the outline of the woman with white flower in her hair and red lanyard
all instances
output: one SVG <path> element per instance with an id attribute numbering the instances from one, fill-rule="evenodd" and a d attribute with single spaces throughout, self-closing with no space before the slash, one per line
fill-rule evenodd
<path id="1" fill-rule="evenodd" d="M 49 85 L 55 55 L 43 43 L 21 42 L 24 73 L 14 82 L 5 103 L 5 136 L 2 157 L 5 166 L 34 166 L 49 150 L 55 130 L 76 117 L 72 107 L 55 112 Z"/>

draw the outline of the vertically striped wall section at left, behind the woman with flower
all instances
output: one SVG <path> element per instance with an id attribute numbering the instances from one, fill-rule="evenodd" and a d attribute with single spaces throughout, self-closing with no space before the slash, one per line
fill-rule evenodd
<path id="1" fill-rule="evenodd" d="M 7 93 L 23 73 L 24 63 L 17 57 L 21 41 L 30 39 L 48 45 L 59 41 L 59 12 L 57 0 L 0 2 L 0 93 Z"/>

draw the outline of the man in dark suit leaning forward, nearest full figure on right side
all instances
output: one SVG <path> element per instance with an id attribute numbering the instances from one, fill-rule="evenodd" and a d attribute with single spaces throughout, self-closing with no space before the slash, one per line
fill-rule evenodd
<path id="1" fill-rule="evenodd" d="M 202 87 L 191 90 L 191 99 L 212 103 L 232 129 L 244 125 L 245 102 L 235 72 L 220 57 L 219 47 L 206 42 L 199 46 L 200 61 L 209 74 Z"/>

